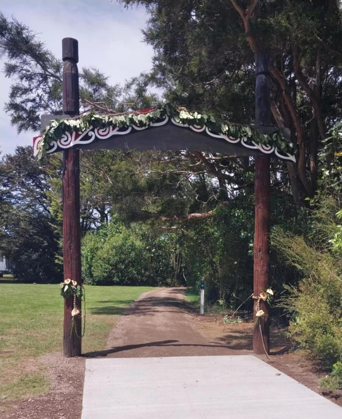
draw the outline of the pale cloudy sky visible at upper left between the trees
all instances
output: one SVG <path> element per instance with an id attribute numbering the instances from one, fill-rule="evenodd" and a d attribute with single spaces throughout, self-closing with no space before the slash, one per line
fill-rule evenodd
<path id="1" fill-rule="evenodd" d="M 144 8 L 126 9 L 116 0 L 1 0 L 0 11 L 15 17 L 38 34 L 56 57 L 62 54 L 62 38 L 78 40 L 78 67 L 97 67 L 110 76 L 111 84 L 148 71 L 151 47 L 141 29 L 148 19 Z M 0 61 L 3 70 L 3 62 Z M 17 134 L 3 110 L 13 81 L 0 73 L 0 151 L 13 153 L 17 145 L 32 145 L 35 132 Z"/>

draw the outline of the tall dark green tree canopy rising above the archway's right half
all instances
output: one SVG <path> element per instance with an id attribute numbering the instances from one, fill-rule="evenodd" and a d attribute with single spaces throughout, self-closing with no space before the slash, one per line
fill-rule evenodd
<path id="1" fill-rule="evenodd" d="M 123 0 L 146 7 L 151 80 L 169 100 L 236 122 L 254 116 L 255 53 L 271 59 L 272 114 L 291 129 L 297 166 L 287 164 L 299 205 L 317 189 L 318 150 L 341 115 L 339 2 Z"/>

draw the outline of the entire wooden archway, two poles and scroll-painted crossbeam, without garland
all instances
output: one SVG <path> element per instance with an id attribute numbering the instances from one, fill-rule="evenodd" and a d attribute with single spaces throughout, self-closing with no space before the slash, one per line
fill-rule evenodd
<path id="1" fill-rule="evenodd" d="M 63 113 L 62 116 L 43 116 L 42 127 L 51 119 L 77 116 L 79 106 L 78 80 L 78 42 L 76 39 L 62 40 L 63 68 Z M 154 110 L 144 110 L 146 114 Z M 280 129 L 270 127 L 270 76 L 267 54 L 256 56 L 255 88 L 255 126 L 269 136 L 285 135 Z M 248 130 L 248 132 L 250 129 Z M 63 263 L 64 279 L 72 279 L 81 284 L 80 253 L 80 165 L 79 149 L 134 148 L 137 150 L 201 150 L 211 153 L 225 153 L 234 156 L 255 156 L 255 237 L 254 237 L 254 294 L 259 295 L 269 285 L 269 233 L 270 233 L 270 156 L 295 161 L 293 155 L 283 152 L 276 145 L 258 143 L 252 136 L 231 136 L 229 133 L 216 132 L 208 124 L 185 124 L 172 118 L 167 111 L 149 124 L 124 124 L 121 127 L 108 124 L 99 127 L 89 126 L 83 130 L 64 130 L 62 134 L 43 144 L 43 136 L 33 138 L 33 153 L 56 153 L 63 151 Z M 286 141 L 286 139 L 285 139 Z M 261 318 L 261 329 L 255 328 L 253 350 L 256 354 L 269 352 L 270 317 L 267 303 L 260 301 L 266 316 Z M 81 302 L 77 301 L 81 307 Z M 81 319 L 74 319 L 75 333 L 70 333 L 72 323 L 72 298 L 64 303 L 64 340 L 65 357 L 81 354 Z M 263 341 L 264 339 L 264 341 Z"/>

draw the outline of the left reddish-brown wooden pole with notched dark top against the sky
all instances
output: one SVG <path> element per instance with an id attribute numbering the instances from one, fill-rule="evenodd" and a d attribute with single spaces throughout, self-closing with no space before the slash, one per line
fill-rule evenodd
<path id="1" fill-rule="evenodd" d="M 63 113 L 80 113 L 78 86 L 78 42 L 62 40 L 63 66 Z M 79 150 L 63 152 L 63 265 L 64 279 L 81 284 L 81 236 L 80 236 L 80 154 Z M 81 301 L 76 300 L 81 309 Z M 81 355 L 81 318 L 75 316 L 76 333 L 72 331 L 73 299 L 64 300 L 63 354 L 64 357 Z M 78 336 L 77 336 L 78 335 Z"/>

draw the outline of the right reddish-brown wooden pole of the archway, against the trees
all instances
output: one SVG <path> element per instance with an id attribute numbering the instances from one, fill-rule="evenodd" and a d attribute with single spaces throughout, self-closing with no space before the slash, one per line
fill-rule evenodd
<path id="1" fill-rule="evenodd" d="M 255 123 L 270 125 L 270 61 L 267 53 L 255 56 Z M 254 230 L 254 295 L 258 296 L 269 285 L 270 265 L 270 157 L 260 155 L 255 158 L 255 230 Z M 255 308 L 257 301 L 255 300 Z M 266 316 L 260 317 L 262 334 L 259 326 L 254 328 L 253 352 L 270 352 L 270 316 L 268 304 L 260 300 L 260 309 Z M 255 318 L 256 310 L 254 310 Z"/>

